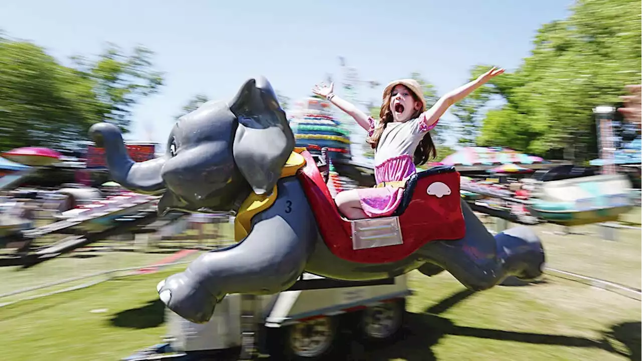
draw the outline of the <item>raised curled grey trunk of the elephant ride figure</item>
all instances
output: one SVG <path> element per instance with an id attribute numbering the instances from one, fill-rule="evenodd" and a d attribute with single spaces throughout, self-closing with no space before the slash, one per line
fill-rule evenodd
<path id="1" fill-rule="evenodd" d="M 97 123 L 89 129 L 96 146 L 105 148 L 107 167 L 112 178 L 121 186 L 138 193 L 159 193 L 164 189 L 161 177 L 166 158 L 134 162 L 127 154 L 123 136 L 115 125 Z"/>

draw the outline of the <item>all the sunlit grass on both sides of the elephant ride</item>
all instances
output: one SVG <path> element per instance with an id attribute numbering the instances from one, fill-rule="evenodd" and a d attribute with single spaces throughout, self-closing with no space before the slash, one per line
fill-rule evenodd
<path id="1" fill-rule="evenodd" d="M 621 230 L 600 240 L 596 226 L 559 235 L 534 227 L 548 265 L 642 288 L 642 236 Z M 110 255 L 111 253 L 111 255 Z M 0 269 L 2 289 L 74 270 L 144 265 L 167 254 L 110 252 L 64 257 L 30 269 Z M 113 258 L 107 258 L 113 257 Z M 132 276 L 0 308 L 0 353 L 7 360 L 119 360 L 161 341 L 164 310 L 157 282 L 184 267 Z M 54 275 L 55 274 L 55 275 Z M 392 346 L 369 346 L 365 360 L 642 360 L 642 302 L 546 276 L 527 286 L 465 290 L 447 273 L 410 274 L 406 328 Z M 0 300 L 2 301 L 2 300 Z M 100 312 L 96 312 L 96 310 Z M 94 312 L 92 312 L 94 311 Z"/>

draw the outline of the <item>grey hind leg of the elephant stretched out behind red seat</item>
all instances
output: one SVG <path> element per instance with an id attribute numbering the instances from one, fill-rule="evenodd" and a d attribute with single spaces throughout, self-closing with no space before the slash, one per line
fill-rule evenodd
<path id="1" fill-rule="evenodd" d="M 485 290 L 508 276 L 541 275 L 544 250 L 533 231 L 517 227 L 493 237 L 463 200 L 462 211 L 464 238 L 424 245 L 419 252 L 427 263 L 447 270 L 471 290 Z"/>

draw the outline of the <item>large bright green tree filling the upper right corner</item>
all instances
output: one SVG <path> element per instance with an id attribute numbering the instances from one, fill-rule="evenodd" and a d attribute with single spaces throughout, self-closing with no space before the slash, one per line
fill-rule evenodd
<path id="1" fill-rule="evenodd" d="M 478 143 L 595 157 L 592 109 L 639 82 L 641 53 L 639 0 L 578 0 L 568 19 L 542 26 L 519 69 L 491 80 L 506 104 L 487 114 Z"/>

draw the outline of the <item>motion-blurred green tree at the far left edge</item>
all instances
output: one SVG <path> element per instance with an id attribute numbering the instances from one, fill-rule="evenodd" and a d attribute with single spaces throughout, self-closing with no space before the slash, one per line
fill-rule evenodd
<path id="1" fill-rule="evenodd" d="M 39 46 L 0 38 L 0 148 L 75 140 L 100 121 L 93 87 Z"/>

